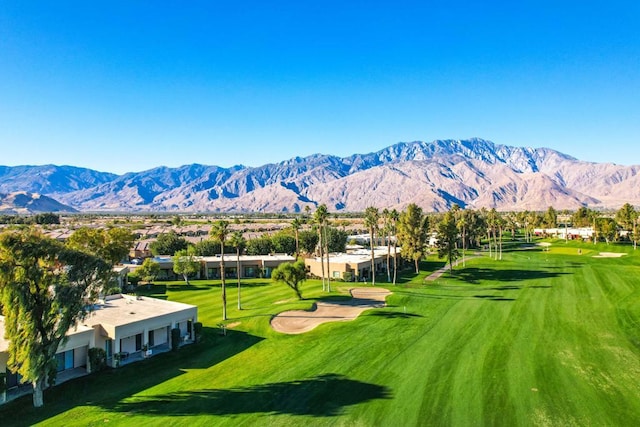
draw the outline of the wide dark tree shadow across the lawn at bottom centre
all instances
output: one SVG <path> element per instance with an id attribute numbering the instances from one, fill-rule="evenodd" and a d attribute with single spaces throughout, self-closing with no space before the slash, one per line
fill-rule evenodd
<path id="1" fill-rule="evenodd" d="M 345 407 L 390 399 L 388 387 L 326 374 L 311 379 L 231 389 L 201 389 L 118 402 L 109 410 L 158 416 L 291 414 L 333 417 Z"/>

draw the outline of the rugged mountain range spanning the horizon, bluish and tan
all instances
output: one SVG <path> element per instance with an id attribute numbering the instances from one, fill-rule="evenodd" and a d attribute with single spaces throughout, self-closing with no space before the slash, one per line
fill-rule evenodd
<path id="1" fill-rule="evenodd" d="M 0 193 L 45 194 L 80 211 L 299 212 L 368 206 L 427 211 L 640 205 L 640 166 L 580 161 L 548 148 L 473 138 L 401 142 L 349 157 L 315 154 L 260 167 L 202 164 L 123 175 L 72 166 L 0 166 Z"/>

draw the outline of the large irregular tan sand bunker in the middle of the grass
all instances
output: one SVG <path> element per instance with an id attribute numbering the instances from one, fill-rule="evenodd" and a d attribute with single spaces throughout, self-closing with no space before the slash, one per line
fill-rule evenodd
<path id="1" fill-rule="evenodd" d="M 350 292 L 353 298 L 349 301 L 318 302 L 311 311 L 280 313 L 271 320 L 271 327 L 284 334 L 302 334 L 326 322 L 346 322 L 365 310 L 384 307 L 387 295 L 391 294 L 386 289 L 378 288 L 353 288 Z"/>

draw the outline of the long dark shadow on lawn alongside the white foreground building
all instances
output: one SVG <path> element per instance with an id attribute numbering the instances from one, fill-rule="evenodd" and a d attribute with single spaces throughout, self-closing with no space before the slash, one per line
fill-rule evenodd
<path id="1" fill-rule="evenodd" d="M 205 327 L 202 332 L 203 341 L 198 344 L 47 389 L 44 394 L 45 406 L 38 410 L 32 406 L 31 395 L 1 405 L 0 420 L 11 419 L 16 426 L 33 425 L 78 406 L 97 405 L 110 409 L 137 393 L 183 375 L 186 369 L 209 368 L 263 340 L 230 329 L 225 337 L 219 336 L 218 328 Z"/>

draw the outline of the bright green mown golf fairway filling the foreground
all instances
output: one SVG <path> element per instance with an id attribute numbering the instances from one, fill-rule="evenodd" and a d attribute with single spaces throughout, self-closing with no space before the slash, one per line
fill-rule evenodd
<path id="1" fill-rule="evenodd" d="M 578 251 L 580 250 L 580 253 Z M 625 252 L 621 258 L 594 258 Z M 150 292 L 196 304 L 204 342 L 0 407 L 11 425 L 640 425 L 640 251 L 553 241 L 469 259 L 390 289 L 388 306 L 301 335 L 269 325 L 331 295 L 305 282 L 244 284 L 230 329 L 217 282 Z"/>

